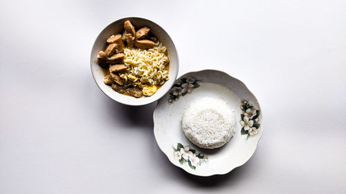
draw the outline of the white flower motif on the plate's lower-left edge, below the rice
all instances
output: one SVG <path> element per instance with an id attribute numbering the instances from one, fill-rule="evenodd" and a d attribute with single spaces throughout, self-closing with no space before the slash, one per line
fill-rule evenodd
<path id="1" fill-rule="evenodd" d="M 173 146 L 174 159 L 179 160 L 180 164 L 188 164 L 190 168 L 196 170 L 197 166 L 201 166 L 202 163 L 209 161 L 207 155 L 196 155 L 196 150 L 190 149 L 190 146 L 183 146 L 182 144 L 176 144 L 176 148 Z"/>

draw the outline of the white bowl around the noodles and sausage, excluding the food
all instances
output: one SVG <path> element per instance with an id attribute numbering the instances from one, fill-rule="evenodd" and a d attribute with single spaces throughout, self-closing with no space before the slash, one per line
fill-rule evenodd
<path id="1" fill-rule="evenodd" d="M 158 40 L 167 48 L 168 58 L 170 59 L 170 79 L 166 81 L 165 84 L 163 84 L 163 86 L 161 86 L 161 88 L 159 88 L 151 97 L 135 98 L 127 95 L 122 95 L 114 91 L 110 86 L 107 86 L 103 83 L 104 74 L 102 68 L 97 63 L 98 52 L 107 48 L 106 41 L 111 35 L 122 34 L 124 22 L 127 20 L 131 21 L 136 30 L 143 26 L 148 26 L 151 29 L 152 34 L 155 35 Z M 163 28 L 161 28 L 161 26 L 158 26 L 158 24 L 140 17 L 126 17 L 118 19 L 117 21 L 114 21 L 106 28 L 104 28 L 93 44 L 90 64 L 93 79 L 95 79 L 96 84 L 98 84 L 98 87 L 102 90 L 102 92 L 111 99 L 120 102 L 121 104 L 127 104 L 131 106 L 150 104 L 153 101 L 156 101 L 163 97 L 163 95 L 165 95 L 165 93 L 167 93 L 173 86 L 176 75 L 178 75 L 179 71 L 178 53 L 176 52 L 176 48 L 170 36 L 167 34 L 167 32 L 165 32 L 165 30 L 163 30 Z"/>

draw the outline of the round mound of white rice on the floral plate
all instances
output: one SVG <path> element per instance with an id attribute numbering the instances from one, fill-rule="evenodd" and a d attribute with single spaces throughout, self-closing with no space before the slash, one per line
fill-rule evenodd
<path id="1" fill-rule="evenodd" d="M 185 109 L 181 124 L 185 136 L 196 146 L 219 148 L 235 133 L 235 113 L 223 99 L 203 97 Z"/>

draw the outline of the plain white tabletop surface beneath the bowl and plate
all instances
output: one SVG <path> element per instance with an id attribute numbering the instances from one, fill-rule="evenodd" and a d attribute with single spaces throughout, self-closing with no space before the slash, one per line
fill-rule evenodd
<path id="1" fill-rule="evenodd" d="M 0 5 L 1 194 L 346 191 L 346 1 Z M 156 145 L 154 104 L 122 106 L 98 89 L 93 41 L 131 15 L 167 30 L 179 75 L 225 70 L 256 95 L 265 133 L 244 166 L 186 174 Z"/>

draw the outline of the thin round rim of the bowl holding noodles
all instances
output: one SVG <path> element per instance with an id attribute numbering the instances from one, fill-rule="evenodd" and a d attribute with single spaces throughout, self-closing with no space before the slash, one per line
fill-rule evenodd
<path id="1" fill-rule="evenodd" d="M 125 20 L 125 19 L 128 19 L 128 20 L 131 20 L 131 19 L 144 19 L 144 20 L 147 20 L 149 22 L 152 22 L 154 23 L 154 25 L 158 26 L 159 28 L 161 28 L 166 34 L 167 34 L 167 37 L 172 41 L 172 46 L 176 52 L 176 63 L 177 63 L 177 66 L 176 66 L 176 74 L 174 74 L 174 76 L 170 77 L 170 79 L 174 79 L 174 81 L 172 81 L 172 84 L 167 87 L 168 90 L 163 93 L 161 96 L 157 96 L 157 97 L 152 97 L 151 100 L 149 101 L 143 101 L 142 103 L 131 103 L 129 101 L 121 101 L 121 100 L 118 100 L 116 99 L 115 97 L 112 97 L 112 96 L 109 96 L 107 95 L 107 93 L 104 92 L 104 90 L 102 90 L 102 88 L 99 86 L 98 82 L 96 81 L 95 79 L 95 75 L 94 75 L 94 71 L 93 71 L 93 48 L 95 46 L 95 44 L 97 43 L 97 40 L 99 39 L 99 37 L 102 35 L 102 33 L 104 32 L 104 30 L 106 30 L 106 28 L 108 28 L 109 26 L 113 25 L 113 23 L 116 23 L 116 22 L 119 22 L 119 21 L 122 21 L 122 20 Z M 95 84 L 98 86 L 98 88 L 102 91 L 102 93 L 104 93 L 104 95 L 106 95 L 107 97 L 109 97 L 110 99 L 113 99 L 113 101 L 117 101 L 118 103 L 120 104 L 125 104 L 125 105 L 128 105 L 128 106 L 143 106 L 143 105 L 146 105 L 146 104 L 151 104 L 153 103 L 154 101 L 158 101 L 158 99 L 161 99 L 162 97 L 164 97 L 169 91 L 170 91 L 170 88 L 172 88 L 172 86 L 174 85 L 174 82 L 176 80 L 176 77 L 178 76 L 179 74 L 179 52 L 178 50 L 176 49 L 176 45 L 172 39 L 172 37 L 170 37 L 170 35 L 168 34 L 168 32 L 162 28 L 160 25 L 158 25 L 158 23 L 150 20 L 150 19 L 147 19 L 147 18 L 144 18 L 144 17 L 122 17 L 120 19 L 117 19 L 116 21 L 112 21 L 111 23 L 109 23 L 107 26 L 105 26 L 104 28 L 102 28 L 101 32 L 98 34 L 98 36 L 96 37 L 95 41 L 93 42 L 93 46 L 91 47 L 91 52 L 90 52 L 90 70 L 91 70 L 91 75 L 93 75 L 93 80 L 95 81 Z M 165 83 L 166 84 L 166 83 Z M 114 91 L 116 93 L 116 91 Z"/>

